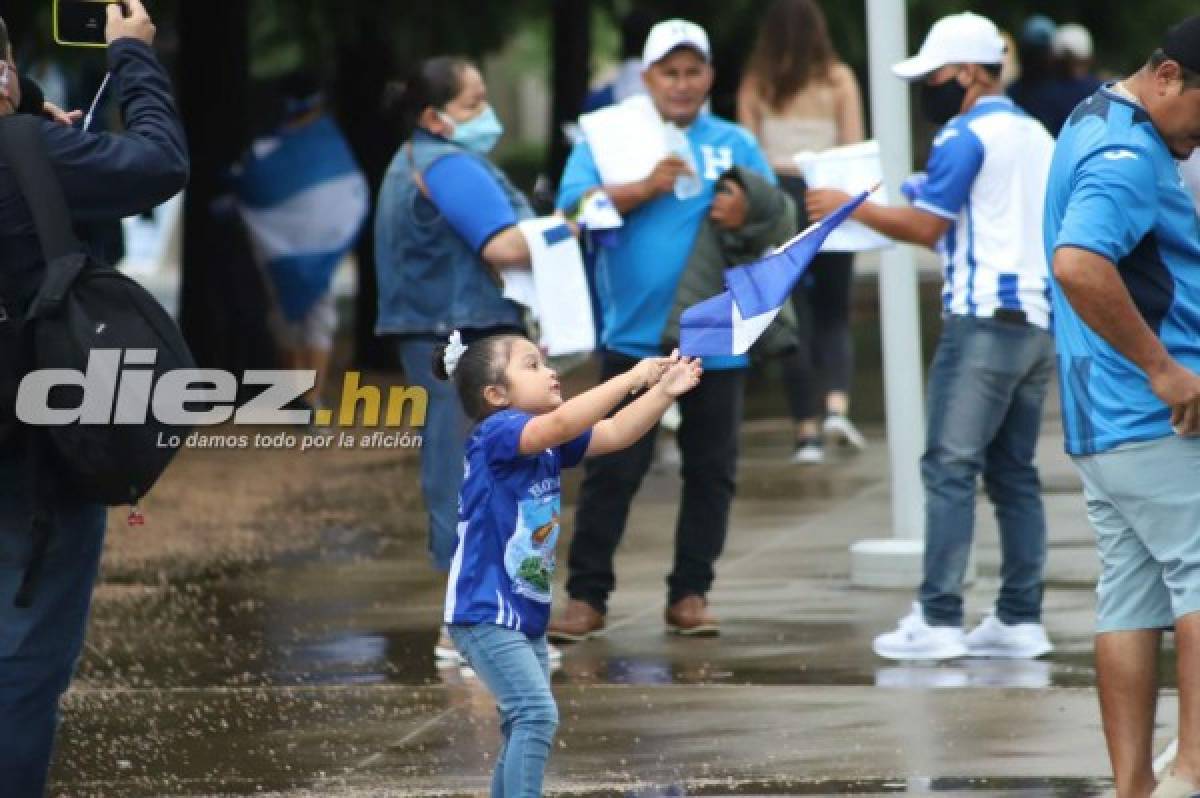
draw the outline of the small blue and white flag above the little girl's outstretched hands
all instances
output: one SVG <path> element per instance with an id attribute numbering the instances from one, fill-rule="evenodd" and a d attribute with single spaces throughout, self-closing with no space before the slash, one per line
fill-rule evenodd
<path id="1" fill-rule="evenodd" d="M 688 358 L 744 355 L 779 316 L 826 238 L 863 204 L 863 192 L 762 260 L 725 272 L 724 294 L 679 317 L 679 352 Z"/>

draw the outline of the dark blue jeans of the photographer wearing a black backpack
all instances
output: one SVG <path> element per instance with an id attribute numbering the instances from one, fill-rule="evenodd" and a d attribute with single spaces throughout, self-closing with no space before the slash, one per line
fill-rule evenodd
<path id="1" fill-rule="evenodd" d="M 0 448 L 0 784 L 13 798 L 46 790 L 59 697 L 83 649 L 104 544 L 104 508 L 60 500 L 26 608 L 13 605 L 32 538 L 23 450 Z"/>

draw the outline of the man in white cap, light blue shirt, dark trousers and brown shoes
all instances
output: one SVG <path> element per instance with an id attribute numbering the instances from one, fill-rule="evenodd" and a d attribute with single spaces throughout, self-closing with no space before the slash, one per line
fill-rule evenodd
<path id="1" fill-rule="evenodd" d="M 664 121 L 686 138 L 686 157 L 668 156 L 649 176 L 625 185 L 604 184 L 587 142 L 576 145 L 566 163 L 559 208 L 570 210 L 584 193 L 602 187 L 625 217 L 619 242 L 604 250 L 596 263 L 604 316 L 601 379 L 661 354 L 676 289 L 718 179 L 743 166 L 774 181 L 754 137 L 704 110 L 714 74 L 709 58 L 704 30 L 683 19 L 655 25 L 642 54 L 648 94 Z M 666 623 L 684 635 L 718 632 L 706 595 L 733 502 L 746 365 L 744 356 L 706 358 L 704 379 L 679 400 L 683 497 Z M 622 452 L 588 461 L 568 559 L 570 601 L 550 625 L 552 641 L 583 640 L 604 628 L 616 586 L 613 554 L 653 461 L 654 439 L 650 432 Z"/>

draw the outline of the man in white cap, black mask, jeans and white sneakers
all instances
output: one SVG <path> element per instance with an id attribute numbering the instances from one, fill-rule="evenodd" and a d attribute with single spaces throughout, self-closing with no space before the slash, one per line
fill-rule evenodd
<path id="1" fill-rule="evenodd" d="M 929 374 L 925 562 L 919 601 L 880 656 L 1033 658 L 1042 626 L 1045 516 L 1033 454 L 1054 373 L 1042 208 L 1054 140 L 1003 95 L 1004 42 L 972 13 L 944 17 L 893 71 L 920 82 L 920 106 L 943 125 L 911 208 L 864 203 L 854 218 L 944 259 L 941 341 Z M 822 217 L 846 197 L 810 190 Z M 962 631 L 962 580 L 974 534 L 976 484 L 996 509 L 1003 565 L 995 612 Z"/>

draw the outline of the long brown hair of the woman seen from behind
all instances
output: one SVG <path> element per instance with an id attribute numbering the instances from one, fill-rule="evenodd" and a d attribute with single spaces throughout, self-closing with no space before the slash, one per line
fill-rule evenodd
<path id="1" fill-rule="evenodd" d="M 838 53 L 815 0 L 775 0 L 758 31 L 748 72 L 767 104 L 781 110 L 814 80 L 828 80 Z"/>

